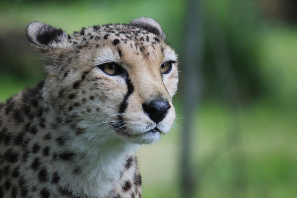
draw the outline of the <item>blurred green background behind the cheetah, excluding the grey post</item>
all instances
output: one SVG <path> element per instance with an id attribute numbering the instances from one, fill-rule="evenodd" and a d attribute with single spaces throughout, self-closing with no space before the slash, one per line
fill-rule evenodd
<path id="1" fill-rule="evenodd" d="M 84 26 L 154 18 L 179 54 L 180 83 L 171 133 L 138 151 L 143 197 L 183 197 L 188 8 L 182 0 L 3 0 L 0 100 L 44 78 L 44 63 L 26 40 L 28 23 L 40 21 L 72 34 Z M 297 197 L 297 3 L 200 0 L 199 10 L 199 97 L 188 142 L 192 197 Z M 234 97 L 225 91 L 228 82 Z"/>

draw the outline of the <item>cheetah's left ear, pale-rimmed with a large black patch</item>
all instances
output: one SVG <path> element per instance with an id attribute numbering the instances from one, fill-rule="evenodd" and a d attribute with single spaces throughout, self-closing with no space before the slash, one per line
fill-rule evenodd
<path id="1" fill-rule="evenodd" d="M 67 34 L 62 29 L 56 29 L 38 21 L 30 23 L 26 33 L 31 45 L 37 49 L 62 47 L 68 43 Z"/>

